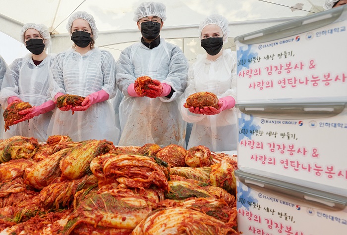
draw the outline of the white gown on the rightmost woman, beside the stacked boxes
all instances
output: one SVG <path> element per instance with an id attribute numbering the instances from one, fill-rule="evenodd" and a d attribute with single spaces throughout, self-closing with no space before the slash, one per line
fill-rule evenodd
<path id="1" fill-rule="evenodd" d="M 194 123 L 187 149 L 198 145 L 205 145 L 211 151 L 237 149 L 235 108 L 217 115 L 203 115 L 191 113 L 183 107 L 186 98 L 197 92 L 211 92 L 218 98 L 232 96 L 236 100 L 236 60 L 234 51 L 223 49 L 223 54 L 215 61 L 207 60 L 206 54 L 199 55 L 189 70 L 187 89 L 179 105 L 183 120 Z"/>

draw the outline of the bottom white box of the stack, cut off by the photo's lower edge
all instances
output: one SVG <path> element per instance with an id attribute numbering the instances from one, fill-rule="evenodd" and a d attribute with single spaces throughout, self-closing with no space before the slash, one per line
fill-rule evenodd
<path id="1" fill-rule="evenodd" d="M 242 182 L 237 178 L 237 227 L 242 235 L 346 235 L 346 207 L 329 210 L 307 205 Z"/>

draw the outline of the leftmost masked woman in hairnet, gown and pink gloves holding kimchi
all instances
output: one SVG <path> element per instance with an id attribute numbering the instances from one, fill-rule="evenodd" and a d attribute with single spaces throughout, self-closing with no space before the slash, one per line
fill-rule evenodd
<path id="1" fill-rule="evenodd" d="M 55 54 L 46 52 L 51 45 L 50 32 L 43 24 L 28 23 L 22 27 L 20 39 L 31 53 L 15 59 L 7 69 L 1 86 L 0 103 L 3 109 L 12 102 L 23 101 L 33 107 L 19 111 L 25 116 L 14 121 L 16 125 L 9 127 L 3 138 L 25 136 L 47 141 L 51 111 L 56 107 L 49 94 L 50 68 L 55 57 Z M 29 119 L 30 125 L 26 121 Z"/>

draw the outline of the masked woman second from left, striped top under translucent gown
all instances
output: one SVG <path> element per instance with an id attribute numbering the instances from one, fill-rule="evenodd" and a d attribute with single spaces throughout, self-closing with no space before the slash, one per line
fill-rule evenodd
<path id="1" fill-rule="evenodd" d="M 57 54 L 51 95 L 55 100 L 63 94 L 85 99 L 81 106 L 58 108 L 49 129 L 53 135 L 67 135 L 73 141 L 95 139 L 117 144 L 119 129 L 115 125 L 115 110 L 108 101 L 116 94 L 116 61 L 109 51 L 94 46 L 99 31 L 92 15 L 84 11 L 73 13 L 66 29 L 74 44 Z"/>

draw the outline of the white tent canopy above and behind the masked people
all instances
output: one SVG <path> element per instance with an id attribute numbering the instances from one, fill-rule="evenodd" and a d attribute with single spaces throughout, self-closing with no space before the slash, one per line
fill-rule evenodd
<path id="1" fill-rule="evenodd" d="M 225 16 L 230 24 L 229 43 L 245 33 L 287 22 L 323 10 L 325 0 L 158 0 L 166 5 L 167 20 L 161 37 L 183 49 L 189 62 L 204 53 L 198 40 L 200 22 L 210 14 Z M 0 31 L 19 41 L 24 23 L 43 23 L 52 37 L 51 52 L 61 52 L 72 45 L 65 29 L 69 15 L 87 11 L 100 31 L 98 47 L 110 50 L 115 58 L 120 51 L 140 38 L 132 20 L 142 0 L 0 0 Z M 5 45 L 2 45 L 5 46 Z"/>

